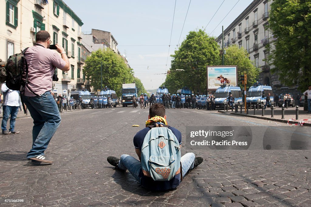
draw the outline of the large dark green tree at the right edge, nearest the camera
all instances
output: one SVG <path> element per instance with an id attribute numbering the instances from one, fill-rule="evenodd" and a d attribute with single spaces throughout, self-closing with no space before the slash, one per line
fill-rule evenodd
<path id="1" fill-rule="evenodd" d="M 308 87 L 311 81 L 311 2 L 274 0 L 271 3 L 269 29 L 273 45 L 268 44 L 269 59 L 285 85 Z"/>

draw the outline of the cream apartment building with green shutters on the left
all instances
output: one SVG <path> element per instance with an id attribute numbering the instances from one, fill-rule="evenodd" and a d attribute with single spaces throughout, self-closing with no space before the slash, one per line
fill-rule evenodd
<path id="1" fill-rule="evenodd" d="M 67 72 L 56 70 L 59 81 L 53 82 L 53 92 L 69 96 L 72 90 L 85 88 L 81 51 L 84 55 L 90 52 L 81 43 L 81 19 L 62 0 L 6 0 L 5 5 L 1 13 L 6 15 L 0 18 L 0 58 L 7 60 L 10 55 L 35 45 L 35 34 L 46 30 L 52 44 L 59 43 L 65 48 L 71 65 Z"/>

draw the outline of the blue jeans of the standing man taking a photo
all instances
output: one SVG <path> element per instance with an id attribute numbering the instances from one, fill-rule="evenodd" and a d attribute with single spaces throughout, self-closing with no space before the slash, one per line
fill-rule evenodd
<path id="1" fill-rule="evenodd" d="M 57 104 L 49 91 L 39 97 L 22 95 L 22 98 L 34 120 L 32 149 L 28 152 L 27 158 L 44 155 L 61 121 Z"/>

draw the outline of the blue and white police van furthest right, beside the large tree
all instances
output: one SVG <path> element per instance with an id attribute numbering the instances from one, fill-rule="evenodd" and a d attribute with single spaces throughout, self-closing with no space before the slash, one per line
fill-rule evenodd
<path id="1" fill-rule="evenodd" d="M 252 86 L 248 89 L 246 103 L 251 105 L 259 104 L 259 106 L 262 103 L 266 104 L 268 93 L 270 93 L 271 104 L 273 104 L 274 98 L 271 86 Z"/>

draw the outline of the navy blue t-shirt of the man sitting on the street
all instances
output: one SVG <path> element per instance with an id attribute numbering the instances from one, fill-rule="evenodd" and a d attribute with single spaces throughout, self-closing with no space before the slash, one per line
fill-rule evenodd
<path id="1" fill-rule="evenodd" d="M 176 136 L 179 144 L 181 144 L 180 131 L 174 127 L 169 126 L 168 128 Z M 149 132 L 149 130 L 151 130 L 151 128 L 146 127 L 140 130 L 139 132 L 137 132 L 137 134 L 134 136 L 133 143 L 136 149 L 139 149 L 140 151 L 142 151 L 142 143 L 144 142 L 145 136 Z M 141 174 L 141 185 L 150 190 L 165 191 L 165 190 L 172 189 L 172 188 L 179 186 L 180 173 L 175 175 L 173 179 L 169 181 L 154 181 L 151 177 L 144 176 L 144 174 L 142 173 L 142 170 L 140 170 L 140 174 Z"/>

